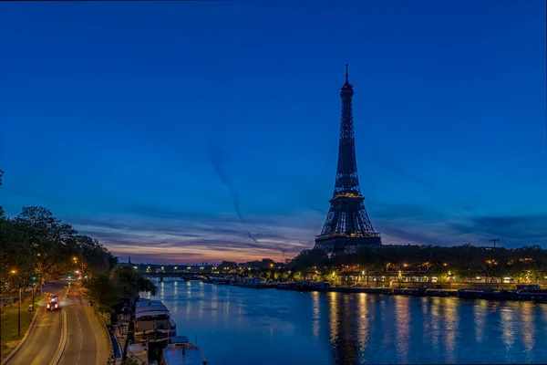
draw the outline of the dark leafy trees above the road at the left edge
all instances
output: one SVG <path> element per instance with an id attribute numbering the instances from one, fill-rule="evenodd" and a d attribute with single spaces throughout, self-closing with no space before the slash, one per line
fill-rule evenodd
<path id="1" fill-rule="evenodd" d="M 26 287 L 40 278 L 57 278 L 78 269 L 108 274 L 118 258 L 106 247 L 41 206 L 24 207 L 11 218 L 0 214 L 0 289 Z M 34 279 L 33 279 L 34 277 Z"/>

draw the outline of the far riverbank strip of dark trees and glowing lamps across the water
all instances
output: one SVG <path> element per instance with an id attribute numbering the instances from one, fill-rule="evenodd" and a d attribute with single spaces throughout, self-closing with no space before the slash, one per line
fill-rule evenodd
<path id="1" fill-rule="evenodd" d="M 274 281 L 328 281 L 333 285 L 374 287 L 509 287 L 547 284 L 547 250 L 539 245 L 519 248 L 473 245 L 381 245 L 354 253 L 327 255 L 303 250 L 284 263 L 264 258 L 219 265 L 132 264 L 149 276 L 196 275 L 260 277 Z"/>

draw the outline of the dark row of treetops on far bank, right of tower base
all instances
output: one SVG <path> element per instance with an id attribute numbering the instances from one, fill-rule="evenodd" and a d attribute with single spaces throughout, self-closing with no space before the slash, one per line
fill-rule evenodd
<path id="1" fill-rule="evenodd" d="M 367 271 L 450 270 L 462 277 L 478 273 L 485 276 L 521 273 L 539 277 L 547 274 L 547 250 L 538 245 L 512 249 L 473 245 L 380 245 L 362 247 L 354 254 L 330 257 L 322 250 L 303 250 L 289 263 L 289 267 L 304 275 L 312 268 L 328 271 L 345 266 L 359 266 L 360 270 Z"/>

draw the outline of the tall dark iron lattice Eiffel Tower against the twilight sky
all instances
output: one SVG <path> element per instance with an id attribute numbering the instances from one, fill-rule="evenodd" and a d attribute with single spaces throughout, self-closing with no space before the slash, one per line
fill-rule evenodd
<path id="1" fill-rule="evenodd" d="M 326 215 L 321 235 L 315 236 L 315 247 L 328 254 L 355 252 L 362 245 L 382 245 L 380 234 L 374 232 L 365 209 L 365 198 L 359 188 L 356 163 L 352 98 L 346 65 L 346 83 L 340 89 L 342 120 L 338 146 L 335 193 Z"/>

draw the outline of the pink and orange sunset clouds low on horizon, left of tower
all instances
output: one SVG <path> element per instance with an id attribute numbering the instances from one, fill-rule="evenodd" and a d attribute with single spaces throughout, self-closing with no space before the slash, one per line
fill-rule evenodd
<path id="1" fill-rule="evenodd" d="M 233 216 L 189 217 L 188 219 L 143 217 L 137 215 L 103 215 L 73 220 L 83 234 L 98 238 L 115 255 L 145 255 L 150 260 L 186 263 L 218 260 L 296 255 L 309 245 L 309 224 L 296 217 L 253 217 L 256 243 L 246 239 L 241 222 Z M 301 225 L 302 224 L 302 225 Z M 188 254 L 188 255 L 187 255 Z"/>

